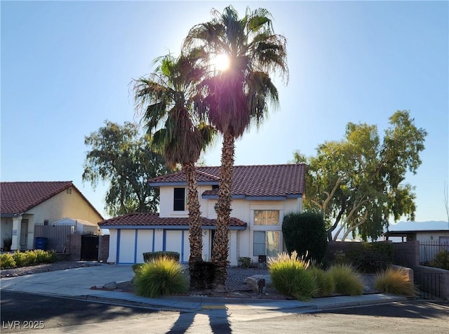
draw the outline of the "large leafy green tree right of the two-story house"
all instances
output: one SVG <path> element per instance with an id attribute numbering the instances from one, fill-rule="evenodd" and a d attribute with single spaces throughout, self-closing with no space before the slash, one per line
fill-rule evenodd
<path id="1" fill-rule="evenodd" d="M 416 196 L 403 181 L 421 164 L 427 132 L 405 110 L 389 123 L 382 142 L 377 126 L 348 123 L 343 140 L 319 145 L 307 159 L 304 208 L 323 213 L 329 240 L 356 232 L 365 241 L 377 239 L 389 219 L 415 219 Z"/>

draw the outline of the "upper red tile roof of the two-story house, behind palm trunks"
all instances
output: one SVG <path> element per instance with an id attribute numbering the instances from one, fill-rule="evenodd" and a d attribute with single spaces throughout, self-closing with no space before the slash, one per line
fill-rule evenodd
<path id="1" fill-rule="evenodd" d="M 220 167 L 196 168 L 198 182 L 215 181 L 218 184 Z M 204 175 L 210 175 L 207 178 Z M 149 185 L 175 185 L 185 183 L 183 171 L 162 175 L 149 180 Z M 304 194 L 304 163 L 285 165 L 234 166 L 232 195 L 246 197 L 295 197 Z M 217 189 L 203 192 L 203 196 L 215 196 Z"/>

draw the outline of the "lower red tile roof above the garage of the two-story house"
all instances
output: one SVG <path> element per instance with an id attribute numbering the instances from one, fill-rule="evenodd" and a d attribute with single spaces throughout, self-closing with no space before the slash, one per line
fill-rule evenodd
<path id="1" fill-rule="evenodd" d="M 123 226 L 189 227 L 189 218 L 160 218 L 159 213 L 129 213 L 128 215 L 103 220 L 98 225 L 102 228 Z M 201 225 L 213 227 L 215 226 L 215 220 L 201 217 Z M 246 222 L 237 218 L 230 218 L 229 227 L 246 227 Z"/>

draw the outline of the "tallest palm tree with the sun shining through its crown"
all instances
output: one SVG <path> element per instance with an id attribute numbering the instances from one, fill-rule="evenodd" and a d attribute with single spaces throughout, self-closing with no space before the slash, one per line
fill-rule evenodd
<path id="1" fill-rule="evenodd" d="M 274 34 L 272 15 L 264 8 L 246 9 L 243 18 L 232 6 L 223 13 L 213 9 L 213 19 L 190 29 L 183 47 L 198 50 L 203 65 L 208 66 L 207 92 L 203 112 L 223 136 L 220 167 L 217 226 L 212 260 L 217 265 L 215 286 L 224 288 L 229 253 L 229 214 L 232 192 L 234 142 L 252 125 L 260 125 L 267 116 L 267 102 L 276 107 L 279 95 L 272 72 L 288 81 L 285 37 Z M 229 68 L 217 71 L 212 60 L 225 54 Z"/>

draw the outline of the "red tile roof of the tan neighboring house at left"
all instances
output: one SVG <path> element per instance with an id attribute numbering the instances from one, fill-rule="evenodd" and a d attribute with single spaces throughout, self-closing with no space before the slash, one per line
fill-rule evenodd
<path id="1" fill-rule="evenodd" d="M 0 212 L 3 216 L 22 215 L 29 209 L 72 187 L 98 213 L 72 181 L 0 182 Z M 100 215 L 100 213 L 98 213 Z M 100 215 L 102 217 L 102 215 Z"/>

